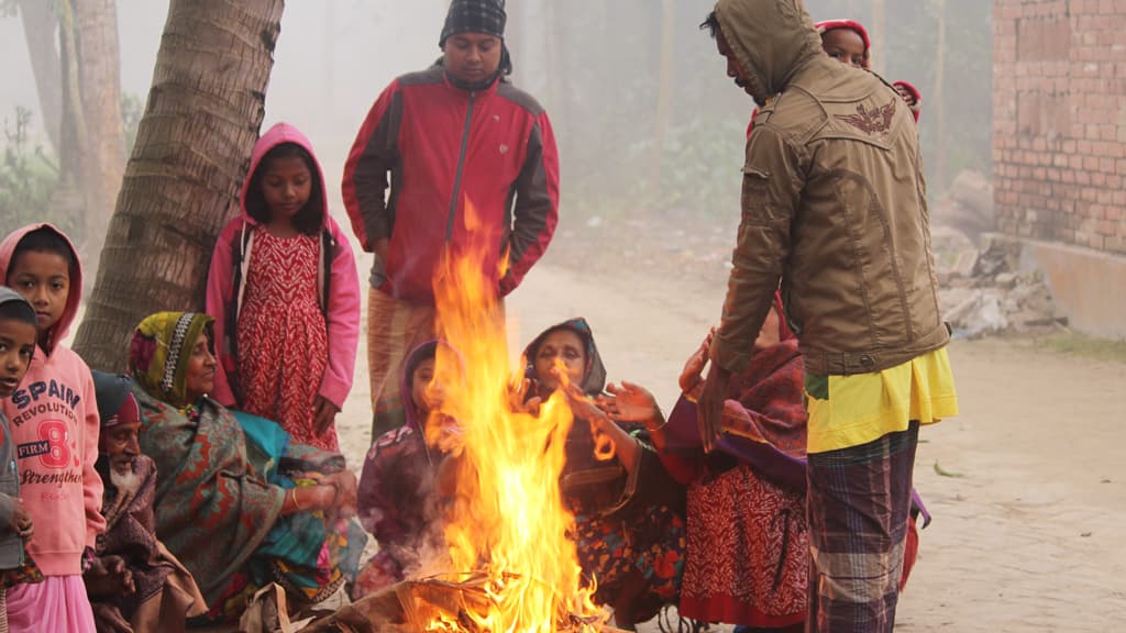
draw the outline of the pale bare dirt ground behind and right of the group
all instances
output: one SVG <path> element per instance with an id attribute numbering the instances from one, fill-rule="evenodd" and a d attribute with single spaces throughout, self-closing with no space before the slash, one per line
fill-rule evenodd
<path id="1" fill-rule="evenodd" d="M 369 257 L 359 258 L 361 270 Z M 662 267 L 646 278 L 597 265 L 578 273 L 560 259 L 510 297 L 513 349 L 586 316 L 610 380 L 643 384 L 671 405 L 683 359 L 718 319 L 722 262 L 692 280 Z M 1126 364 L 1027 339 L 956 341 L 950 357 L 962 416 L 921 436 L 915 485 L 935 520 L 899 630 L 1117 628 L 1126 618 Z M 369 442 L 365 358 L 356 369 L 338 429 L 358 470 Z"/>

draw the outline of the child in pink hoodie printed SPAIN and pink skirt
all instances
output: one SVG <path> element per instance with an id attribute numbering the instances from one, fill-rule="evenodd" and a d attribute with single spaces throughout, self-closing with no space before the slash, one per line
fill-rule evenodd
<path id="1" fill-rule="evenodd" d="M 19 462 L 20 498 L 35 521 L 28 551 L 45 577 L 8 590 L 12 631 L 92 633 L 82 573 L 100 514 L 98 407 L 90 369 L 61 345 L 82 296 L 82 269 L 71 241 L 33 224 L 0 242 L 0 280 L 36 313 L 38 349 L 20 387 L 3 402 Z"/>

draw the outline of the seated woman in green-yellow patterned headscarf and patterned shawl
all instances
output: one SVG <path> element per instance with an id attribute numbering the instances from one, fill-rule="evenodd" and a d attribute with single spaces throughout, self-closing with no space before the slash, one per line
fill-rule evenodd
<path id="1" fill-rule="evenodd" d="M 236 617 L 269 582 L 297 608 L 315 604 L 355 577 L 366 536 L 341 516 L 354 512 L 356 478 L 342 456 L 289 445 L 280 427 L 207 396 L 212 322 L 161 312 L 129 345 L 141 451 L 159 473 L 157 534 L 196 578 L 211 621 Z"/>

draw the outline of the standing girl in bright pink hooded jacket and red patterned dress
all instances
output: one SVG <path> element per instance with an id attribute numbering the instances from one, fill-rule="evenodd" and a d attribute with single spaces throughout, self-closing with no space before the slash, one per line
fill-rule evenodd
<path id="1" fill-rule="evenodd" d="M 359 279 L 304 134 L 279 123 L 258 141 L 241 203 L 207 275 L 220 359 L 212 396 L 339 451 L 333 419 L 351 390 Z"/>

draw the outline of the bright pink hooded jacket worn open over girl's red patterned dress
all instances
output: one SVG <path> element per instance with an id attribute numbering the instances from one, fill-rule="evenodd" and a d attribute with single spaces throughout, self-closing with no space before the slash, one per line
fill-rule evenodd
<path id="1" fill-rule="evenodd" d="M 259 162 L 266 152 L 282 143 L 296 143 L 313 157 L 313 146 L 296 127 L 288 123 L 278 123 L 270 127 L 258 143 L 250 155 L 250 170 L 247 172 L 247 180 L 242 185 L 240 206 L 242 213 L 223 228 L 218 240 L 215 242 L 215 251 L 212 255 L 211 270 L 207 274 L 207 313 L 215 318 L 215 351 L 220 359 L 218 371 L 215 373 L 215 389 L 212 398 L 225 407 L 236 404 L 234 392 L 227 381 L 227 372 L 238 366 L 238 358 L 234 354 L 235 346 L 233 339 L 235 332 L 231 331 L 232 326 L 238 322 L 238 311 L 242 305 L 242 288 L 238 279 L 245 279 L 248 255 L 252 253 L 252 234 L 258 226 L 258 222 L 247 213 L 247 189 L 250 180 L 258 169 Z M 316 164 L 316 177 L 321 180 L 321 190 L 324 187 L 324 175 L 321 166 Z M 318 393 L 323 395 L 337 407 L 342 408 L 348 392 L 351 391 L 352 372 L 356 366 L 356 345 L 359 340 L 359 276 L 356 273 L 356 259 L 352 256 L 348 240 L 340 232 L 336 221 L 329 215 L 329 200 L 324 196 L 324 232 L 331 239 L 332 261 L 328 262 L 328 275 L 322 270 L 318 296 L 324 301 L 323 286 L 328 282 L 329 296 L 328 306 L 324 310 L 325 322 L 329 335 L 329 363 L 321 380 L 321 389 Z M 322 233 L 323 235 L 324 233 Z M 322 244 L 324 242 L 322 241 Z M 236 264 L 241 259 L 240 264 Z M 322 261 L 322 268 L 325 265 Z M 322 307 L 324 307 L 322 305 Z"/>

